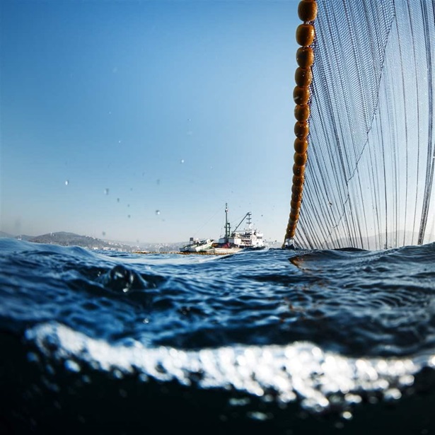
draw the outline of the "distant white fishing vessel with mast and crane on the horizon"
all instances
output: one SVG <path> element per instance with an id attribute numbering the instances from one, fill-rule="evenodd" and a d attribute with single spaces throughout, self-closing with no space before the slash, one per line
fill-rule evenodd
<path id="1" fill-rule="evenodd" d="M 182 253 L 205 253 L 205 254 L 233 254 L 245 249 L 262 249 L 265 248 L 263 234 L 255 228 L 252 228 L 252 213 L 243 216 L 236 228 L 231 231 L 231 224 L 228 221 L 228 204 L 225 204 L 225 235 L 219 238 L 217 242 L 212 239 L 201 240 L 190 238 L 188 245 L 180 248 Z M 238 230 L 240 225 L 246 221 L 245 229 Z"/>

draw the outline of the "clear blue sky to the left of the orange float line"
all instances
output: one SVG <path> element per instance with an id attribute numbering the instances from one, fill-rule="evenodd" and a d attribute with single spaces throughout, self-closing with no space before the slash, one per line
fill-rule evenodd
<path id="1" fill-rule="evenodd" d="M 298 1 L 2 1 L 1 230 L 284 238 Z"/>

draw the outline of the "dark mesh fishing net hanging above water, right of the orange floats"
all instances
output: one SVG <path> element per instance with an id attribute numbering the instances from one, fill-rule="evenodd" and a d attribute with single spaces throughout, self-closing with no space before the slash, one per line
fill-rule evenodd
<path id="1" fill-rule="evenodd" d="M 294 243 L 434 241 L 434 0 L 318 0 Z"/>

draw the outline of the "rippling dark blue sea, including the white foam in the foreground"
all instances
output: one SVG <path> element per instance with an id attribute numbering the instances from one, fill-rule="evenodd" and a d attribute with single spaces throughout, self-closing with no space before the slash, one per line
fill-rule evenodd
<path id="1" fill-rule="evenodd" d="M 435 434 L 435 244 L 0 239 L 0 433 Z"/>

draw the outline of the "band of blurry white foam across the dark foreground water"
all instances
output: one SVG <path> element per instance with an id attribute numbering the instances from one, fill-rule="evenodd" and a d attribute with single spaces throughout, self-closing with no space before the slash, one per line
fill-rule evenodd
<path id="1" fill-rule="evenodd" d="M 199 388 L 234 389 L 267 400 L 273 392 L 282 403 L 299 398 L 302 407 L 311 412 L 332 405 L 349 412 L 349 407 L 361 402 L 361 395 L 369 400 L 398 400 L 414 383 L 414 374 L 435 361 L 435 356 L 418 362 L 410 358 L 350 358 L 325 352 L 311 342 L 199 351 L 150 348 L 139 342 L 127 347 L 96 340 L 59 323 L 37 325 L 25 337 L 70 371 L 78 372 L 87 364 L 116 378 L 140 373 L 142 380 L 151 377 L 187 386 L 195 382 Z"/>

